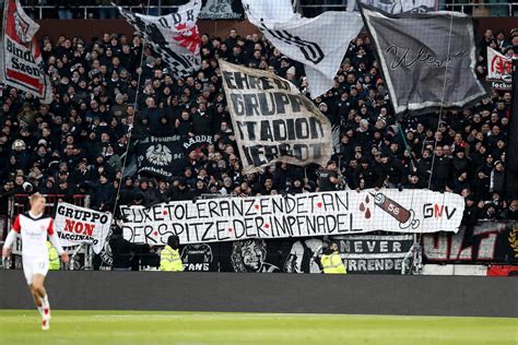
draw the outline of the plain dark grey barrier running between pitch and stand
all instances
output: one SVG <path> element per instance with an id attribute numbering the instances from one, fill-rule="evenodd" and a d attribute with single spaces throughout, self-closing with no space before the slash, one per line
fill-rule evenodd
<path id="1" fill-rule="evenodd" d="M 0 309 L 34 309 L 24 285 L 0 271 Z M 518 317 L 505 277 L 61 271 L 46 287 L 68 310 Z"/>

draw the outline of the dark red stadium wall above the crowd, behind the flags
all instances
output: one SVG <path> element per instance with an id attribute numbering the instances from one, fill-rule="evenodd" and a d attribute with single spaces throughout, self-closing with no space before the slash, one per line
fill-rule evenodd
<path id="1" fill-rule="evenodd" d="M 117 33 L 132 35 L 134 29 L 125 20 L 40 20 L 42 28 L 37 33 L 38 37 L 49 35 L 52 39 L 59 35 L 78 36 L 85 40 L 99 36 L 104 33 Z M 239 35 L 258 33 L 258 29 L 248 21 L 199 21 L 201 33 L 211 36 L 226 37 L 228 31 L 234 27 Z M 478 37 L 481 37 L 485 29 L 494 32 L 503 31 L 508 34 L 513 27 L 518 27 L 517 17 L 478 17 L 475 19 Z"/>

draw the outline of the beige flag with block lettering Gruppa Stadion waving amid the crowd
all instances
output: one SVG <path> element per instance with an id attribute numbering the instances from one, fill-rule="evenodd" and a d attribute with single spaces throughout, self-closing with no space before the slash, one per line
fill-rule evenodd
<path id="1" fill-rule="evenodd" d="M 325 165 L 331 158 L 331 123 L 295 85 L 223 60 L 220 67 L 246 172 L 278 162 Z"/>

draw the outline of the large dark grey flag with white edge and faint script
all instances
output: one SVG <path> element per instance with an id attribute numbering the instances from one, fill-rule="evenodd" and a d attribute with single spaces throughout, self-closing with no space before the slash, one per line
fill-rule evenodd
<path id="1" fill-rule="evenodd" d="M 460 108 L 485 96 L 478 81 L 470 16 L 391 15 L 361 5 L 397 114 Z"/>

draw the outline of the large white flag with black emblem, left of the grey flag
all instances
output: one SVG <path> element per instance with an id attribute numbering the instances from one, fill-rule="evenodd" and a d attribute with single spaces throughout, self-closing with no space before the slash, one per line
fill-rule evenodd
<path id="1" fill-rule="evenodd" d="M 304 63 L 313 98 L 333 86 L 349 44 L 363 26 L 358 14 L 330 11 L 307 19 L 293 12 L 291 0 L 243 0 L 243 4 L 248 21 L 273 46 Z"/>

